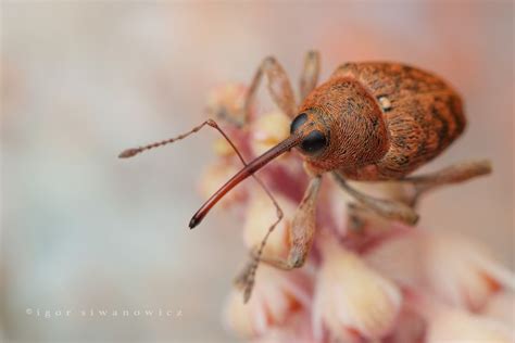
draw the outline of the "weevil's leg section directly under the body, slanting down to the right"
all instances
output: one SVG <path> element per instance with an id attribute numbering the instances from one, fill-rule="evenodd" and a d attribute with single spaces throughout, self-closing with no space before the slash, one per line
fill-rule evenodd
<path id="1" fill-rule="evenodd" d="M 418 215 L 416 212 L 403 204 L 401 202 L 378 199 L 370 195 L 366 195 L 354 188 L 350 187 L 349 183 L 343 179 L 338 173 L 332 173 L 336 181 L 340 185 L 343 190 L 346 190 L 350 195 L 352 195 L 359 203 L 364 207 L 374 211 L 376 214 L 393 220 L 400 220 L 407 225 L 415 225 L 418 220 Z"/>

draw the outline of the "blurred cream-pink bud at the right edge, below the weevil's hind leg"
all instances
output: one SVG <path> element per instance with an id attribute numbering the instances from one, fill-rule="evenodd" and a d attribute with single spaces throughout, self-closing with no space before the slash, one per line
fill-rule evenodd
<path id="1" fill-rule="evenodd" d="M 511 271 L 479 244 L 449 232 L 414 230 L 366 252 L 365 258 L 404 287 L 453 306 L 478 310 L 500 288 L 514 288 Z"/>

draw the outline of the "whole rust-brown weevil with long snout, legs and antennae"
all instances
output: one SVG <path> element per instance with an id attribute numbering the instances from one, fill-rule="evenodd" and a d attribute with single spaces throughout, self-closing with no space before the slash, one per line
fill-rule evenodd
<path id="1" fill-rule="evenodd" d="M 400 63 L 363 62 L 339 66 L 330 78 L 317 86 L 319 55 L 310 51 L 300 81 L 300 102 L 294 100 L 290 81 L 274 58 L 260 65 L 244 103 L 243 122 L 263 75 L 278 107 L 291 117 L 290 136 L 250 163 L 213 120 L 191 131 L 150 145 L 129 149 L 120 157 L 183 139 L 208 125 L 216 128 L 238 153 L 244 167 L 214 193 L 193 215 L 189 227 L 198 226 L 209 211 L 235 186 L 253 176 L 277 208 L 272 225 L 253 259 L 242 274 L 248 301 L 260 261 L 282 269 L 301 267 L 310 252 L 315 231 L 316 196 L 322 176 L 331 173 L 361 206 L 393 220 L 414 225 L 418 216 L 414 205 L 419 194 L 438 186 L 465 181 L 491 172 L 488 161 L 466 162 L 439 172 L 409 176 L 417 167 L 443 152 L 464 130 L 466 119 L 460 96 L 441 78 Z M 290 246 L 286 261 L 261 256 L 266 239 L 282 217 L 272 193 L 253 174 L 292 148 L 301 153 L 311 177 L 289 228 Z M 416 190 L 406 203 L 366 195 L 346 180 L 411 182 Z"/>

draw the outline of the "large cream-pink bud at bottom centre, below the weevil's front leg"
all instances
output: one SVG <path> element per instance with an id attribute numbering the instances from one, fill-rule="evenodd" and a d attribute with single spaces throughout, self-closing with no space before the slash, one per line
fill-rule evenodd
<path id="1" fill-rule="evenodd" d="M 336 242 L 326 241 L 322 249 L 313 308 L 315 336 L 322 339 L 322 326 L 337 339 L 349 332 L 365 339 L 389 333 L 402 305 L 399 288 Z"/>

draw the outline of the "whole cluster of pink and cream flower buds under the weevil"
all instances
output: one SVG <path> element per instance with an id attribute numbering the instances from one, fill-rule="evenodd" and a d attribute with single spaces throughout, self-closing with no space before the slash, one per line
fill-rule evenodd
<path id="1" fill-rule="evenodd" d="M 210 111 L 224 114 L 227 132 L 246 158 L 253 158 L 288 135 L 289 119 L 278 111 L 260 116 L 252 111 L 238 129 L 246 91 L 241 86 L 218 89 Z M 219 158 L 203 177 L 204 194 L 241 168 L 227 144 L 217 141 L 215 151 Z M 284 259 L 307 177 L 294 153 L 258 176 L 285 215 L 263 256 Z M 228 194 L 225 208 L 239 208 L 243 241 L 252 250 L 276 220 L 276 211 L 255 181 L 244 185 Z M 410 191 L 394 182 L 354 187 L 395 200 L 405 200 Z M 426 231 L 372 213 L 356 224 L 348 212 L 353 201 L 324 179 L 306 265 L 284 271 L 262 263 L 250 302 L 243 304 L 238 289 L 229 296 L 225 319 L 230 330 L 254 343 L 513 341 L 513 272 L 452 230 Z"/>

